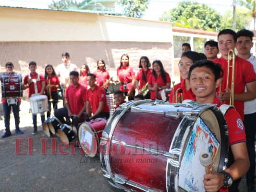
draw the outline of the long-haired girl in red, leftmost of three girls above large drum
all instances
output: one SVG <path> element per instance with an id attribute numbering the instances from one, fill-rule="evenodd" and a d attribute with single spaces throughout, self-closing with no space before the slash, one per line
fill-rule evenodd
<path id="1" fill-rule="evenodd" d="M 120 67 L 117 68 L 117 82 L 121 82 L 120 91 L 128 96 L 128 100 L 134 100 L 135 95 L 135 72 L 134 68 L 129 66 L 129 56 L 123 54 L 120 61 Z"/>

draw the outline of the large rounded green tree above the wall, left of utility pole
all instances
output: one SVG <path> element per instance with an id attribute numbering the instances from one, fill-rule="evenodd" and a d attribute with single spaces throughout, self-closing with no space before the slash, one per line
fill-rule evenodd
<path id="1" fill-rule="evenodd" d="M 178 7 L 164 12 L 159 18 L 160 21 L 175 22 L 184 16 L 186 19 L 195 18 L 201 23 L 204 30 L 215 30 L 220 26 L 221 15 L 211 7 L 197 2 L 184 1 L 178 4 Z M 195 28 L 195 26 L 192 26 Z"/>

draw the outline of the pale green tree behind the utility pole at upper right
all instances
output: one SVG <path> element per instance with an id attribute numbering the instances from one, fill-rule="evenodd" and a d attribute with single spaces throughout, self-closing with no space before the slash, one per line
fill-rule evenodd
<path id="1" fill-rule="evenodd" d="M 251 22 L 250 12 L 247 8 L 236 7 L 236 31 L 246 28 Z M 232 29 L 233 26 L 233 11 L 227 11 L 224 13 L 221 19 L 222 29 Z"/>

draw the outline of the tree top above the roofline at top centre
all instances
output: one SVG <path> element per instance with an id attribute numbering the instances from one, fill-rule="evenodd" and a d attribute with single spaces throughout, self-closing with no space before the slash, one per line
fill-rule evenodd
<path id="1" fill-rule="evenodd" d="M 149 4 L 148 0 L 118 0 L 128 17 L 141 18 Z"/>

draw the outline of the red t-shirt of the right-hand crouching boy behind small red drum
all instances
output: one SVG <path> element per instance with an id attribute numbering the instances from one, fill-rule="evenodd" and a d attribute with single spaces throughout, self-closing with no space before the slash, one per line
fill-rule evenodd
<path id="1" fill-rule="evenodd" d="M 99 102 L 101 101 L 104 101 L 104 109 L 101 112 L 110 112 L 110 108 L 107 103 L 106 91 L 98 85 L 95 85 L 93 90 L 91 88 L 87 90 L 86 101 L 90 102 L 92 113 L 97 111 Z"/>

